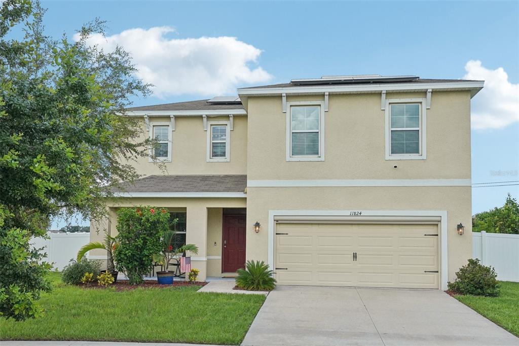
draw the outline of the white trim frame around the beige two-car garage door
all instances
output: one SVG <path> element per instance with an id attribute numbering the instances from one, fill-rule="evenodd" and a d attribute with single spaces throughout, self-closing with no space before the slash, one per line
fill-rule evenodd
<path id="1" fill-rule="evenodd" d="M 357 210 L 269 210 L 268 211 L 268 265 L 271 270 L 274 270 L 274 244 L 275 244 L 275 232 L 276 232 L 276 219 L 284 220 L 308 220 L 311 217 L 316 219 L 323 219 L 323 217 L 330 217 L 331 220 L 351 216 L 352 212 Z M 362 210 L 362 216 L 353 216 L 349 221 L 358 220 L 371 221 L 379 220 L 381 218 L 389 217 L 393 221 L 409 221 L 413 219 L 413 222 L 423 218 L 424 222 L 428 223 L 432 220 L 439 224 L 440 228 L 440 288 L 442 290 L 447 289 L 448 280 L 448 257 L 447 257 L 447 211 L 446 210 Z M 319 223 L 319 221 L 317 221 Z"/>

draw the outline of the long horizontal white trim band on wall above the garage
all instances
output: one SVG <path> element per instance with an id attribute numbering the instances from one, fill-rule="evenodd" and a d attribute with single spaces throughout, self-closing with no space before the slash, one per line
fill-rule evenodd
<path id="1" fill-rule="evenodd" d="M 471 179 L 248 180 L 249 188 L 471 186 Z"/>

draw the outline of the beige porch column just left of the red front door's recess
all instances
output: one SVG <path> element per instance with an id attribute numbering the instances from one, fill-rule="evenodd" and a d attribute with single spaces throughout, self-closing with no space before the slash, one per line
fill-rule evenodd
<path id="1" fill-rule="evenodd" d="M 191 268 L 200 271 L 198 281 L 205 281 L 207 277 L 207 207 L 188 206 L 186 208 L 186 244 L 198 246 L 198 255 L 191 254 Z"/>

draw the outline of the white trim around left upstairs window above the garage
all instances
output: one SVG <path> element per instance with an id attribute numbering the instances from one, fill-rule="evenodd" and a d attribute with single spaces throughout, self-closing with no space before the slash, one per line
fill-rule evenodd
<path id="1" fill-rule="evenodd" d="M 292 106 L 315 106 L 319 109 L 319 156 L 292 156 Z M 324 161 L 324 101 L 286 102 L 286 161 Z"/>

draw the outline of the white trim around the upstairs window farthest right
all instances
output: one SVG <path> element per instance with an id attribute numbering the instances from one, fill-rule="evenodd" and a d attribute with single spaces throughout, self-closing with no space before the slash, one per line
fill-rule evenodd
<path id="1" fill-rule="evenodd" d="M 420 103 L 420 153 L 391 155 L 391 122 L 390 104 L 394 103 Z M 427 102 L 426 98 L 415 99 L 386 99 L 386 159 L 387 160 L 425 160 L 427 159 Z"/>

